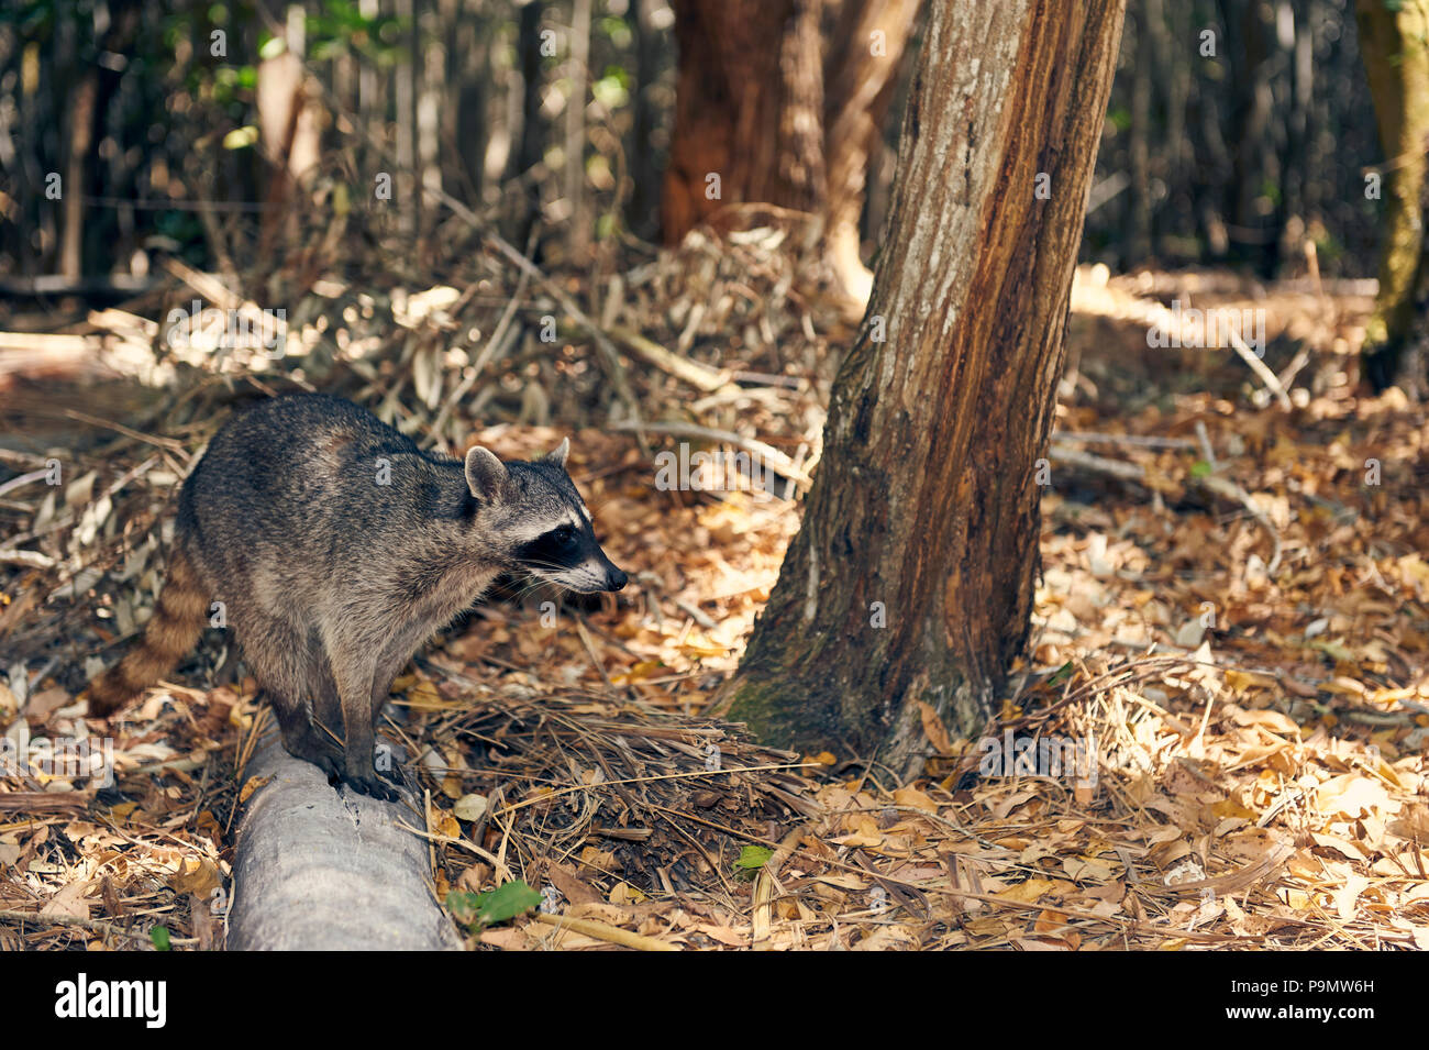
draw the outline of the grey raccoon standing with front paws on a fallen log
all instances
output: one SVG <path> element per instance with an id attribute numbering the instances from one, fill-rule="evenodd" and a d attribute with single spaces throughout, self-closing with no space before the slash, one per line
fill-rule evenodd
<path id="1" fill-rule="evenodd" d="M 569 451 L 564 439 L 533 463 L 482 447 L 450 459 L 322 394 L 233 417 L 179 493 L 143 643 L 90 684 L 90 714 L 171 670 L 221 603 L 289 754 L 396 799 L 374 769 L 376 720 L 433 631 L 507 571 L 587 594 L 626 584 L 566 473 Z"/>

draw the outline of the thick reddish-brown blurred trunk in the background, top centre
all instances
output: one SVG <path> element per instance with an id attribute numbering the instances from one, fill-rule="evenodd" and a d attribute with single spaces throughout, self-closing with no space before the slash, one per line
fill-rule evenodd
<path id="1" fill-rule="evenodd" d="M 735 201 L 815 211 L 826 197 L 822 0 L 674 0 L 680 70 L 664 241 Z"/>

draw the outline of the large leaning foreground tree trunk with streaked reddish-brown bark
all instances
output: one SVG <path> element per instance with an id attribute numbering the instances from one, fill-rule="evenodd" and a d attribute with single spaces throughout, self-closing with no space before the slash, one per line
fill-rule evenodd
<path id="1" fill-rule="evenodd" d="M 1123 14 L 932 7 L 869 314 L 720 693 L 765 740 L 912 771 L 926 713 L 973 733 L 992 710 L 1027 634 L 1037 459 Z"/>

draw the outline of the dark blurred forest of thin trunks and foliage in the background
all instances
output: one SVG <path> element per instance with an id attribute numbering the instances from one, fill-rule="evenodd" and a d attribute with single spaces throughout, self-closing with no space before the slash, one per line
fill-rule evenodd
<path id="1" fill-rule="evenodd" d="M 0 277 L 131 273 L 153 247 L 204 267 L 252 253 L 277 207 L 263 156 L 284 143 L 266 141 L 264 110 L 282 140 L 284 77 L 306 93 L 294 136 L 312 140 L 316 171 L 294 174 L 326 186 L 319 207 L 372 200 L 389 173 L 387 231 L 419 244 L 439 217 L 416 181 L 517 243 L 539 230 L 547 259 L 654 241 L 674 21 L 664 0 L 7 4 Z M 919 24 L 867 159 L 865 261 Z M 284 53 L 300 56 L 296 73 Z M 1379 201 L 1365 184 L 1380 160 L 1349 0 L 1130 0 L 1083 259 L 1272 277 L 1303 270 L 1310 240 L 1326 274 L 1369 274 Z M 81 181 L 69 249 L 51 173 Z"/>

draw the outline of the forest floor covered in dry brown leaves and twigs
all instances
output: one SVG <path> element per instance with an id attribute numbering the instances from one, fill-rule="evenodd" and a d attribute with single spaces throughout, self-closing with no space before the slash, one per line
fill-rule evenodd
<path id="1" fill-rule="evenodd" d="M 107 730 L 113 784 L 34 741 L 101 750 L 80 694 L 153 607 L 177 484 L 236 394 L 306 384 L 450 451 L 534 454 L 574 420 L 572 476 L 633 577 L 617 597 L 499 591 L 394 686 L 437 897 L 520 879 L 597 924 L 527 914 L 473 947 L 1429 949 L 1429 426 L 1352 386 L 1365 290 L 1080 271 L 1027 660 L 980 740 L 929 721 L 900 783 L 707 716 L 799 503 L 663 490 L 652 454 L 735 431 L 782 477 L 816 463 L 852 330 L 777 240 L 696 243 L 587 289 L 497 253 L 437 287 L 313 277 L 287 319 L 310 356 L 279 376 L 207 353 L 201 319 L 153 354 L 163 307 L 224 294 L 184 267 L 81 311 L 74 353 L 123 380 L 0 389 L 23 437 L 0 447 L 0 726 L 30 737 L 0 779 L 0 947 L 221 946 L 266 719 L 224 633 Z M 1262 310 L 1290 407 L 1228 350 L 1149 347 L 1147 304 L 1175 299 Z M 53 456 L 63 484 L 17 481 Z M 1013 761 L 1020 740 L 1065 764 Z"/>

